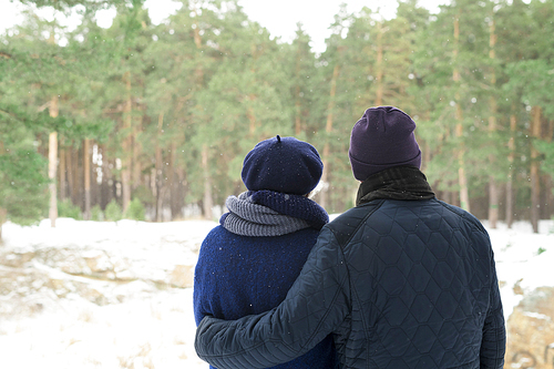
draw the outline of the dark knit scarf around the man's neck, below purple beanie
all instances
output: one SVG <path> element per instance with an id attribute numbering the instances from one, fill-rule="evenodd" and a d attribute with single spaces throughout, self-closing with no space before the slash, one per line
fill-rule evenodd
<path id="1" fill-rule="evenodd" d="M 379 172 L 360 184 L 356 205 L 373 199 L 428 199 L 434 192 L 425 175 L 416 166 L 394 166 Z"/>

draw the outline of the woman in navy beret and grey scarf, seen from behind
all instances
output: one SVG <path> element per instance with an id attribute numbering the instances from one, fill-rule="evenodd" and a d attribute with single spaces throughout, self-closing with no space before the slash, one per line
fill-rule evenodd
<path id="1" fill-rule="evenodd" d="M 237 319 L 285 299 L 329 222 L 308 198 L 324 165 L 307 142 L 279 137 L 259 142 L 245 157 L 248 189 L 226 201 L 228 213 L 202 244 L 194 277 L 196 324 L 205 315 Z M 276 368 L 336 368 L 332 337 Z"/>

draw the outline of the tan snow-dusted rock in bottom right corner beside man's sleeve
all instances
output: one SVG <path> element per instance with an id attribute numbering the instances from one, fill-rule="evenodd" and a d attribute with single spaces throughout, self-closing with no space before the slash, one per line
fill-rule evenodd
<path id="1" fill-rule="evenodd" d="M 504 368 L 554 368 L 554 287 L 525 294 L 506 327 Z"/>

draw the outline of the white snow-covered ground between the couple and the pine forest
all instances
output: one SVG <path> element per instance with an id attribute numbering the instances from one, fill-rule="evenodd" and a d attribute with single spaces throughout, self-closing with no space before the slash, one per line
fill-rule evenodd
<path id="1" fill-rule="evenodd" d="M 4 255 L 72 247 L 84 254 L 102 250 L 122 265 L 135 266 L 121 267 L 121 276 L 133 278 L 117 284 L 68 275 L 40 263 L 25 264 L 25 268 L 88 279 L 117 299 L 98 305 L 76 293 L 60 298 L 55 290 L 34 286 L 25 298 L 29 304 L 40 301 L 40 312 L 21 316 L 14 311 L 12 318 L 0 317 L 1 368 L 207 368 L 194 352 L 192 288 L 160 288 L 151 283 L 156 278 L 144 277 L 160 274 L 167 264 L 194 266 L 199 244 L 213 226 L 215 223 L 203 221 L 115 224 L 59 219 L 55 228 L 47 221 L 32 227 L 6 224 L 4 245 L 0 246 Z M 488 230 L 507 319 L 522 298 L 514 293 L 514 285 L 523 291 L 554 286 L 554 222 L 541 222 L 540 234 L 533 234 L 529 223 L 516 223 L 512 229 L 500 224 L 497 229 Z M 0 268 L 4 274 L 10 270 Z M 0 306 L 12 298 L 12 293 L 0 290 Z"/>

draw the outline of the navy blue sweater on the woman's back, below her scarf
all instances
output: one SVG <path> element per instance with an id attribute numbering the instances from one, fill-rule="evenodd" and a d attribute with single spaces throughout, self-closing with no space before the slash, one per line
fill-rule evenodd
<path id="1" fill-rule="evenodd" d="M 194 315 L 226 320 L 267 311 L 285 299 L 319 232 L 277 237 L 239 236 L 217 226 L 202 244 L 194 277 Z M 275 368 L 336 368 L 331 336 Z"/>

